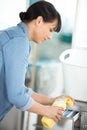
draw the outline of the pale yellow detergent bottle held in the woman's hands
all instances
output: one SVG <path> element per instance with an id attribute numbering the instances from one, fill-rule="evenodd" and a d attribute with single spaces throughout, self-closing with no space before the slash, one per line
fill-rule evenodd
<path id="1" fill-rule="evenodd" d="M 73 102 L 70 98 L 56 99 L 52 105 L 63 107 L 64 109 L 66 109 L 67 106 L 73 106 Z M 42 117 L 41 122 L 43 126 L 48 130 L 52 129 L 52 127 L 56 124 L 53 119 L 48 118 L 46 116 Z"/>

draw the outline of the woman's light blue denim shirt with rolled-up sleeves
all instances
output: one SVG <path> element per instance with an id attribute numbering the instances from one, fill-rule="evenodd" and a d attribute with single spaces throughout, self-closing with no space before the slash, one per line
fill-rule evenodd
<path id="1" fill-rule="evenodd" d="M 25 111 L 34 103 L 33 90 L 24 84 L 31 50 L 28 37 L 23 22 L 0 33 L 0 120 L 14 105 Z"/>

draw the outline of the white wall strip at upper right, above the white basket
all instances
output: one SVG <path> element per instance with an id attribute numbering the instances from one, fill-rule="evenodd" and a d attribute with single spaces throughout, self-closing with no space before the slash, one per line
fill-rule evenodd
<path id="1" fill-rule="evenodd" d="M 77 0 L 72 46 L 87 48 L 87 0 Z"/>

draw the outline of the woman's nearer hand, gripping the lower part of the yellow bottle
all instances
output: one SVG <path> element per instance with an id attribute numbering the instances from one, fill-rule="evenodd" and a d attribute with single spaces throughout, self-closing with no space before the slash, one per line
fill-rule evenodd
<path id="1" fill-rule="evenodd" d="M 46 115 L 48 118 L 52 118 L 55 122 L 61 119 L 64 112 L 64 108 L 58 106 L 46 106 Z"/>

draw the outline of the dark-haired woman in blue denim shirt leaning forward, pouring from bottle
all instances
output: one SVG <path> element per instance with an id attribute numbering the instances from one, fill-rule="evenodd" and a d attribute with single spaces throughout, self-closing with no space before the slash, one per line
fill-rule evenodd
<path id="1" fill-rule="evenodd" d="M 29 41 L 40 44 L 52 38 L 54 31 L 60 31 L 61 18 L 54 6 L 46 1 L 31 5 L 20 13 L 21 22 L 0 33 L 0 120 L 16 106 L 22 111 L 53 118 L 61 118 L 63 108 L 53 107 L 56 98 L 35 93 L 24 84 Z"/>

